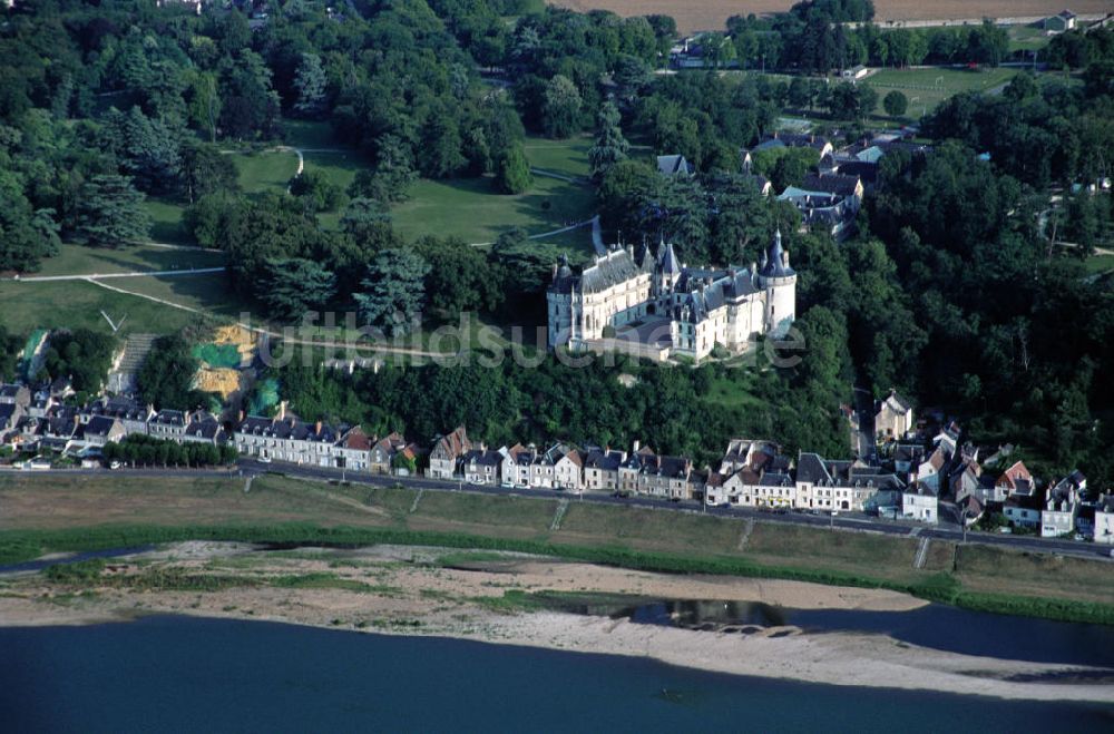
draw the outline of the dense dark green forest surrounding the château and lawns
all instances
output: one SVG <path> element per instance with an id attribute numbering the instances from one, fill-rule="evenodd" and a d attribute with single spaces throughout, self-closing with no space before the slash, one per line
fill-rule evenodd
<path id="1" fill-rule="evenodd" d="M 590 135 L 597 205 L 625 242 L 677 243 L 690 263 L 749 264 L 775 226 L 800 272 L 789 370 L 390 368 L 344 376 L 276 369 L 306 418 L 363 421 L 419 440 L 459 422 L 490 441 L 571 439 L 706 459 L 735 434 L 789 450 L 847 453 L 839 407 L 853 384 L 898 388 L 979 441 L 1013 441 L 1040 469 L 1114 478 L 1114 299 L 1084 258 L 1112 244 L 1114 33 L 1073 31 L 1001 94 L 961 94 L 921 120 L 928 155 L 888 155 L 859 234 L 799 232 L 762 197 L 739 150 L 786 107 L 827 112 L 853 141 L 878 104 L 824 74 L 856 63 L 997 65 L 991 25 L 883 30 L 869 0 L 801 2 L 734 18 L 717 53 L 763 75 L 656 75 L 677 41 L 662 16 L 620 19 L 527 0 L 272 2 L 250 9 L 148 0 L 27 0 L 0 25 L 0 270 L 33 271 L 61 242 L 126 247 L 147 238 L 147 196 L 187 207 L 197 244 L 224 251 L 228 285 L 274 322 L 355 310 L 388 335 L 411 316 L 540 322 L 551 263 L 509 228 L 487 251 L 452 232 L 408 242 L 391 206 L 419 178 L 485 176 L 529 187 L 527 133 Z M 257 13 L 256 13 L 257 16 Z M 843 23 L 864 23 L 854 28 Z M 726 42 L 730 36 L 731 42 Z M 821 75 L 821 76 L 809 76 Z M 364 167 L 346 190 L 314 175 L 286 194 L 238 190 L 227 146 L 282 141 L 290 120 L 328 123 Z M 665 178 L 634 145 L 681 153 L 692 178 Z M 779 186 L 814 160 L 759 162 Z M 322 213 L 339 225 L 326 227 Z M 400 317 L 401 314 L 401 317 Z M 11 349 L 20 334 L 3 334 Z M 69 341 L 66 341 L 69 340 Z M 88 342 L 88 343 L 87 343 Z M 58 343 L 50 371 L 102 359 L 86 334 Z M 193 400 L 168 342 L 144 376 L 159 402 Z M 170 349 L 173 348 L 173 349 Z M 88 354 L 87 354 L 88 352 Z M 94 353 L 96 352 L 96 353 Z M 10 349 L 0 366 L 13 364 Z M 617 375 L 636 378 L 620 386 Z M 75 375 L 77 376 L 77 375 Z M 85 378 L 81 378 L 84 381 Z M 88 382 L 91 386 L 94 379 Z M 716 397 L 745 393 L 745 400 Z"/>

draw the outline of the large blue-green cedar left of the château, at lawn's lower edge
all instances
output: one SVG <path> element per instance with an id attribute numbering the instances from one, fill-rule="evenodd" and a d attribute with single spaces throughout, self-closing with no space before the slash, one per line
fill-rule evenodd
<path id="1" fill-rule="evenodd" d="M 364 323 L 389 336 L 401 336 L 421 319 L 426 302 L 426 275 L 429 264 L 405 249 L 387 249 L 368 267 L 368 277 L 355 294 Z"/>

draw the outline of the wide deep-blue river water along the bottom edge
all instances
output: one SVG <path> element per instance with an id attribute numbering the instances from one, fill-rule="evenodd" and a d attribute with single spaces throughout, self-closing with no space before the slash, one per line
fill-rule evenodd
<path id="1" fill-rule="evenodd" d="M 0 629 L 4 732 L 1103 732 L 1114 707 L 262 622 Z"/>

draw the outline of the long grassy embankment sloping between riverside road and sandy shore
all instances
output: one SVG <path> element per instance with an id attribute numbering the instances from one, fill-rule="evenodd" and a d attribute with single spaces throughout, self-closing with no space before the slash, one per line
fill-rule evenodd
<path id="1" fill-rule="evenodd" d="M 0 479 L 0 561 L 48 551 L 186 539 L 393 542 L 519 550 L 627 568 L 880 587 L 958 606 L 1114 624 L 1114 575 L 1100 560 L 557 500 L 256 479 Z M 90 521 L 90 518 L 97 518 Z"/>

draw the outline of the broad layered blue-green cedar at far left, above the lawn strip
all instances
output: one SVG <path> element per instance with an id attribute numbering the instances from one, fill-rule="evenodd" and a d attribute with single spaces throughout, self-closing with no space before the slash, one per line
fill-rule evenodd
<path id="1" fill-rule="evenodd" d="M 100 175 L 80 189 L 71 237 L 90 247 L 120 248 L 147 238 L 150 217 L 144 195 L 125 176 Z"/>

